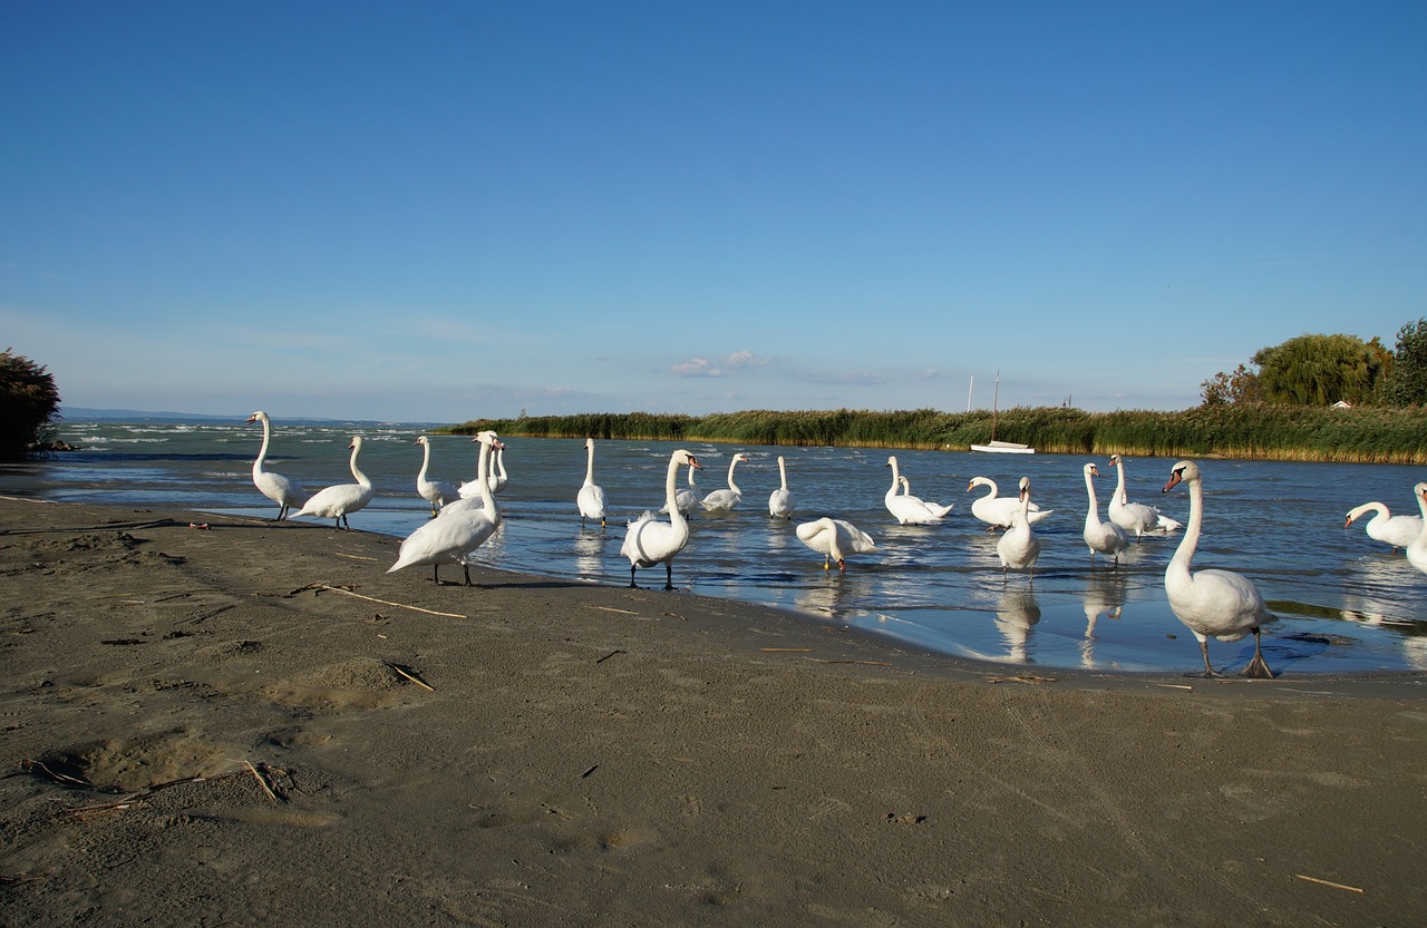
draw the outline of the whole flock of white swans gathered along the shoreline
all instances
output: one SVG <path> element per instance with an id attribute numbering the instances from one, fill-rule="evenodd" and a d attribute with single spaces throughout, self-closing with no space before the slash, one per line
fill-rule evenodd
<path id="1" fill-rule="evenodd" d="M 347 516 L 367 506 L 374 497 L 372 483 L 358 465 L 361 436 L 352 436 L 350 445 L 350 468 L 355 483 L 328 486 L 307 496 L 303 488 L 293 480 L 265 469 L 271 442 L 271 422 L 267 413 L 254 412 L 248 422 L 263 423 L 263 446 L 253 463 L 253 483 L 264 496 L 280 506 L 277 519 L 281 520 L 291 512 L 293 516 L 332 519 L 335 527 L 350 530 Z M 391 566 L 388 573 L 404 567 L 431 566 L 432 579 L 440 583 L 441 564 L 461 564 L 465 583 L 471 586 L 469 556 L 499 526 L 501 512 L 495 495 L 508 479 L 504 463 L 492 466 L 492 460 L 501 460 L 501 452 L 505 448 L 499 438 L 494 432 L 482 432 L 472 440 L 479 443 L 477 479 L 462 483 L 459 488 L 428 478 L 430 440 L 427 436 L 415 440 L 417 445 L 422 446 L 417 493 L 431 505 L 432 517 L 402 539 L 397 563 Z M 608 519 L 606 497 L 605 490 L 595 483 L 594 439 L 585 440 L 585 479 L 575 495 L 575 505 L 582 526 L 586 520 L 594 519 L 598 519 L 604 526 Z M 664 564 L 664 589 L 675 589 L 674 560 L 689 543 L 688 516 L 699 506 L 709 513 L 726 513 L 735 509 L 742 502 L 743 495 L 733 475 L 738 465 L 746 460 L 748 455 L 733 455 L 728 468 L 728 486 L 699 497 L 694 482 L 695 470 L 702 469 L 698 458 L 684 449 L 675 450 L 669 456 L 664 482 L 664 506 L 658 513 L 649 510 L 631 520 L 619 546 L 619 553 L 629 560 L 631 587 L 636 586 L 636 570 Z M 1117 470 L 1117 483 L 1106 507 L 1109 520 L 1100 519 L 1100 505 L 1095 489 L 1095 479 L 1100 476 L 1100 472 L 1095 463 L 1083 466 L 1087 500 L 1083 539 L 1090 550 L 1090 563 L 1095 563 L 1096 555 L 1103 555 L 1112 559 L 1113 567 L 1117 569 L 1120 555 L 1129 549 L 1132 536 L 1137 540 L 1147 532 L 1170 533 L 1183 527 L 1184 533 L 1164 570 L 1164 592 L 1170 610 L 1199 641 L 1204 663 L 1203 676 L 1220 676 L 1209 660 L 1209 639 L 1236 641 L 1251 634 L 1254 637 L 1254 656 L 1241 676 L 1271 679 L 1273 671 L 1264 663 L 1260 650 L 1260 629 L 1273 622 L 1274 616 L 1264 606 L 1257 587 L 1243 574 L 1230 570 L 1192 569 L 1204 510 L 1203 476 L 1199 466 L 1192 460 L 1177 462 L 1164 485 L 1164 492 L 1179 485 L 1184 485 L 1189 490 L 1189 523 L 1182 525 L 1153 506 L 1130 502 L 1124 486 L 1124 460 L 1119 455 L 1113 455 L 1109 463 Z M 892 470 L 892 480 L 883 502 L 899 525 L 935 523 L 945 519 L 952 510 L 952 505 L 926 502 L 913 496 L 910 479 L 900 472 L 896 456 L 889 456 L 886 466 Z M 686 489 L 678 486 L 682 469 L 688 469 Z M 769 495 L 768 512 L 771 517 L 792 519 L 796 512 L 796 499 L 788 488 L 788 469 L 782 456 L 778 458 L 778 470 L 779 488 Z M 972 492 L 977 488 L 986 488 L 989 492 L 972 503 L 970 512 L 989 532 L 1000 532 L 996 555 L 1002 564 L 1003 583 L 1009 580 L 1009 572 L 1019 570 L 1026 572 L 1027 583 L 1033 584 L 1035 566 L 1042 549 L 1033 526 L 1046 519 L 1052 510 L 1042 510 L 1032 502 L 1029 478 L 1020 478 L 1015 497 L 999 496 L 995 480 L 989 478 L 973 478 L 966 490 Z M 1417 483 L 1413 488 L 1413 495 L 1421 516 L 1393 516 L 1383 503 L 1370 502 L 1350 510 L 1344 527 L 1351 526 L 1354 520 L 1370 512 L 1374 513 L 1366 525 L 1368 537 L 1391 545 L 1394 550 L 1403 549 L 1407 560 L 1427 573 L 1427 533 L 1423 532 L 1424 519 L 1427 519 L 1427 482 Z M 661 515 L 665 515 L 666 520 L 661 519 Z M 838 570 L 845 572 L 848 556 L 876 550 L 872 536 L 846 519 L 813 519 L 795 526 L 795 535 L 803 545 L 823 556 L 823 569 L 828 570 L 836 563 Z"/>

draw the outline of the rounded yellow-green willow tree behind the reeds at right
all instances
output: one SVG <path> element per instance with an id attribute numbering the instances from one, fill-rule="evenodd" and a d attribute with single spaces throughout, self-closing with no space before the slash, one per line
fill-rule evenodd
<path id="1" fill-rule="evenodd" d="M 1381 344 L 1354 335 L 1299 335 L 1261 348 L 1253 362 L 1270 403 L 1331 406 L 1344 399 L 1364 405 L 1378 396 L 1388 366 L 1383 355 Z"/>

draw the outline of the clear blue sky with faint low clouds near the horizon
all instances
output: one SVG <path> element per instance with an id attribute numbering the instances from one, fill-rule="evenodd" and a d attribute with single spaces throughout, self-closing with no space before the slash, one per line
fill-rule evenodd
<path id="1" fill-rule="evenodd" d="M 4 3 L 70 406 L 1182 409 L 1427 315 L 1427 4 Z"/>

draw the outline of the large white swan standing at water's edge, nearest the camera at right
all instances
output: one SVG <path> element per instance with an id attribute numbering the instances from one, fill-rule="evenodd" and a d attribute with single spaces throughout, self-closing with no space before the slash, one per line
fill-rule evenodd
<path id="1" fill-rule="evenodd" d="M 1199 650 L 1204 656 L 1204 677 L 1219 677 L 1209 663 L 1209 639 L 1237 641 L 1253 633 L 1253 660 L 1244 667 L 1241 677 L 1273 679 L 1273 671 L 1263 660 L 1259 649 L 1259 626 L 1273 622 L 1274 616 L 1263 604 L 1259 587 L 1243 574 L 1229 570 L 1200 570 L 1192 573 L 1189 566 L 1199 545 L 1199 532 L 1204 523 L 1204 486 L 1199 476 L 1199 465 L 1180 460 L 1170 472 L 1167 493 L 1179 483 L 1189 485 L 1189 527 L 1180 539 L 1174 556 L 1164 569 L 1164 592 L 1169 607 L 1189 626 L 1199 639 Z"/>

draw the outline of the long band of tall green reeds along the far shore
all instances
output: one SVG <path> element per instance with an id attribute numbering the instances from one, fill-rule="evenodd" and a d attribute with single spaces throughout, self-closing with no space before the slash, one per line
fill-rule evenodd
<path id="1" fill-rule="evenodd" d="M 845 445 L 968 450 L 992 438 L 989 411 L 749 409 L 708 416 L 586 413 L 478 419 L 442 429 L 474 435 L 701 440 L 745 445 Z M 1427 409 L 1223 405 L 1182 412 L 1085 412 L 1017 406 L 995 419 L 996 438 L 1046 453 L 1162 458 L 1261 458 L 1427 463 Z"/>

